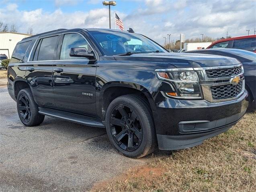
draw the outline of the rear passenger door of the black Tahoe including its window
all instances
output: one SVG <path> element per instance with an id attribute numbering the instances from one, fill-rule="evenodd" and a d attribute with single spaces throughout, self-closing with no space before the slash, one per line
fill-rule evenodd
<path id="1" fill-rule="evenodd" d="M 28 60 L 26 79 L 40 107 L 54 107 L 53 62 L 56 59 L 58 36 L 38 39 Z"/>

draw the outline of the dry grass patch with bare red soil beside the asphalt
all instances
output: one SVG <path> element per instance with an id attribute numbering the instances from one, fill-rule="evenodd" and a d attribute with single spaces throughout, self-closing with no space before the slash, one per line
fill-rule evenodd
<path id="1" fill-rule="evenodd" d="M 202 145 L 156 155 L 92 192 L 256 190 L 256 112 Z"/>

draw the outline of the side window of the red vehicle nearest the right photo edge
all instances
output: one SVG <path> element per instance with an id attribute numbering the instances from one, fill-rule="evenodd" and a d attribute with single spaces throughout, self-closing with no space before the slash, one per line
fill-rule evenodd
<path id="1" fill-rule="evenodd" d="M 234 40 L 233 48 L 243 49 L 243 50 L 248 50 L 248 51 L 255 51 L 256 50 L 256 38 Z"/>

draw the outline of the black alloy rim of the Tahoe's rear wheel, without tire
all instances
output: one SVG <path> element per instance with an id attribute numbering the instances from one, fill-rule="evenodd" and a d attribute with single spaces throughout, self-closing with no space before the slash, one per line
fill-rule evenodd
<path id="1" fill-rule="evenodd" d="M 25 94 L 21 94 L 18 98 L 18 112 L 20 117 L 23 118 L 25 122 L 29 122 L 31 119 L 31 109 L 29 98 Z"/>

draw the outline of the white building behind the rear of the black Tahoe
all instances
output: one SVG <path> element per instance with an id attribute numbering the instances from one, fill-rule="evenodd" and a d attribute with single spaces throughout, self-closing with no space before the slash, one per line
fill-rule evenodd
<path id="1" fill-rule="evenodd" d="M 6 54 L 6 56 L 10 58 L 16 44 L 23 38 L 29 36 L 31 35 L 14 32 L 0 32 L 0 54 Z"/>

